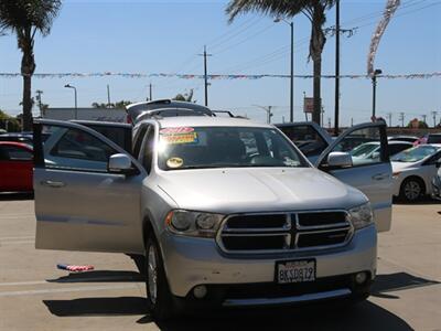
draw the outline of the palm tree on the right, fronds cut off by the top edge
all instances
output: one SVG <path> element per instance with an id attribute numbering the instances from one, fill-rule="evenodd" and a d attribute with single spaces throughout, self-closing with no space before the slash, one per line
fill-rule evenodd
<path id="1" fill-rule="evenodd" d="M 325 11 L 335 4 L 336 0 L 230 0 L 226 8 L 229 22 L 239 13 L 262 12 L 275 18 L 293 18 L 303 13 L 311 21 L 310 58 L 313 62 L 314 71 L 314 111 L 312 120 L 320 124 L 321 105 L 321 75 L 322 75 L 322 52 L 326 38 L 323 25 L 326 22 Z"/>

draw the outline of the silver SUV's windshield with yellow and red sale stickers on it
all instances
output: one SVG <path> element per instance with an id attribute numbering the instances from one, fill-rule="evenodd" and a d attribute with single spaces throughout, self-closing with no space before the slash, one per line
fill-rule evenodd
<path id="1" fill-rule="evenodd" d="M 163 170 L 310 167 L 277 129 L 252 127 L 164 128 L 158 163 Z"/>

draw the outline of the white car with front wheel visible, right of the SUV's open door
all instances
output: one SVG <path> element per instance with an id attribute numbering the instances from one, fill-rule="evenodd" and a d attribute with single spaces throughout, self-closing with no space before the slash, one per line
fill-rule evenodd
<path id="1" fill-rule="evenodd" d="M 441 145 L 420 145 L 391 158 L 394 196 L 415 202 L 432 193 L 432 179 L 437 161 L 441 159 Z"/>

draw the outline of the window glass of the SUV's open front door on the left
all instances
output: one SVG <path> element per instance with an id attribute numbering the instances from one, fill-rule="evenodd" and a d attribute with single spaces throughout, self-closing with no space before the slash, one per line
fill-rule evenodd
<path id="1" fill-rule="evenodd" d="M 43 145 L 46 168 L 106 172 L 110 156 L 118 153 L 80 129 L 44 126 L 43 134 L 49 136 Z"/>

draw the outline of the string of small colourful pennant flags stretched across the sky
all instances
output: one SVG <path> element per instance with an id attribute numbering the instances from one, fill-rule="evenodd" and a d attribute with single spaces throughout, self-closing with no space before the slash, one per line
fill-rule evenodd
<path id="1" fill-rule="evenodd" d="M 1 78 L 15 78 L 20 77 L 20 73 L 0 73 Z M 36 73 L 32 75 L 35 78 L 65 78 L 65 77 L 125 77 L 125 78 L 181 78 L 181 79 L 204 79 L 204 75 L 191 75 L 191 74 L 165 74 L 165 73 L 114 73 L 114 72 L 101 72 L 101 73 Z M 261 78 L 290 78 L 290 75 L 277 75 L 277 74 L 260 74 L 260 75 L 207 75 L 208 79 L 261 79 Z M 313 78 L 314 75 L 294 75 L 295 78 Z M 335 78 L 335 75 L 322 75 L 322 78 Z M 377 78 L 387 79 L 428 79 L 441 77 L 441 72 L 433 73 L 417 73 L 417 74 L 398 74 L 398 75 L 378 75 Z M 370 75 L 340 75 L 340 78 L 372 78 Z"/>

